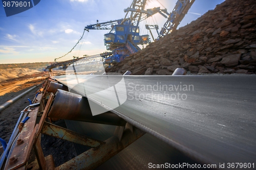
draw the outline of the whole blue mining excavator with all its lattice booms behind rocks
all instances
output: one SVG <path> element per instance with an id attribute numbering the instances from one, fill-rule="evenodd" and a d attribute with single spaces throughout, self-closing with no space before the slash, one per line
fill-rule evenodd
<path id="1" fill-rule="evenodd" d="M 104 44 L 106 45 L 106 50 L 112 51 L 112 55 L 108 53 L 108 55 L 102 56 L 104 63 L 110 65 L 112 62 L 120 62 L 125 57 L 141 50 L 138 46 L 139 44 L 143 45 L 151 42 L 149 35 L 140 35 L 139 22 L 141 20 L 156 13 L 160 13 L 167 18 L 160 33 L 158 32 L 157 25 L 146 25 L 146 29 L 157 30 L 157 39 L 159 39 L 177 28 L 194 1 L 195 0 L 178 0 L 173 12 L 168 13 L 166 9 L 160 9 L 160 7 L 145 10 L 146 0 L 133 0 L 131 6 L 124 9 L 126 15 L 123 19 L 101 23 L 97 20 L 95 25 L 89 25 L 85 27 L 84 30 L 111 30 L 108 34 L 104 35 Z"/>

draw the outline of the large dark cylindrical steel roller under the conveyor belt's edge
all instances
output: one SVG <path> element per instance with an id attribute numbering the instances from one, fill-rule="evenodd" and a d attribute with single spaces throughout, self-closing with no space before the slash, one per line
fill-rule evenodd
<path id="1" fill-rule="evenodd" d="M 112 112 L 93 116 L 87 98 L 60 89 L 57 89 L 55 93 L 48 117 L 115 126 L 124 126 L 126 124 L 121 117 Z"/>

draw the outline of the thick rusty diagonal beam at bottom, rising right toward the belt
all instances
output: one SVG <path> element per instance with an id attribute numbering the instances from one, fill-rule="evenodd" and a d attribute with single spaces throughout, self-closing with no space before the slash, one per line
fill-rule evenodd
<path id="1" fill-rule="evenodd" d="M 128 145 L 140 138 L 145 133 L 137 128 L 134 128 L 134 133 L 129 129 L 124 130 L 121 141 L 117 136 L 113 136 L 105 140 L 105 144 L 97 149 L 90 149 L 77 157 L 69 160 L 66 163 L 56 167 L 56 170 L 66 169 L 94 169 L 109 160 L 117 153 L 122 151 Z"/>

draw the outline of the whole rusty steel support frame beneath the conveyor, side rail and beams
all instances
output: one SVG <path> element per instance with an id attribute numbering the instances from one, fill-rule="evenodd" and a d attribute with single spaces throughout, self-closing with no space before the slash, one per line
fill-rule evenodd
<path id="1" fill-rule="evenodd" d="M 91 137 L 78 134 L 71 130 L 56 126 L 46 122 L 47 115 L 54 101 L 54 94 L 47 92 L 49 82 L 40 88 L 39 94 L 34 101 L 40 101 L 40 106 L 34 108 L 30 113 L 30 119 L 26 122 L 18 137 L 14 140 L 13 147 L 9 153 L 5 169 L 25 170 L 31 164 L 37 164 L 39 169 L 93 169 L 101 165 L 111 157 L 122 151 L 128 145 L 133 143 L 145 133 L 131 124 L 126 126 L 117 126 L 112 137 L 105 141 L 93 139 Z M 49 95 L 47 105 L 42 103 L 46 95 Z M 40 121 L 36 124 L 38 112 L 44 109 Z M 75 158 L 55 167 L 52 155 L 44 156 L 41 149 L 41 134 L 50 135 L 63 140 L 68 140 L 82 145 L 91 147 L 90 150 L 76 156 Z M 28 160 L 31 151 L 34 151 L 36 159 L 30 165 Z"/>

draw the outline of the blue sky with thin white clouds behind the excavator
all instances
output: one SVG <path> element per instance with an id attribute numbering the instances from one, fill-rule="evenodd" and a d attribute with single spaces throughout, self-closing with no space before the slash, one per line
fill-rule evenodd
<path id="1" fill-rule="evenodd" d="M 196 0 L 179 27 L 190 23 L 224 0 Z M 160 4 L 160 3 L 161 4 Z M 0 6 L 0 63 L 53 62 L 68 53 L 82 35 L 85 26 L 121 19 L 123 10 L 132 0 L 41 0 L 35 7 L 6 17 Z M 176 0 L 148 0 L 146 8 L 160 7 L 172 12 Z M 159 25 L 161 30 L 166 19 L 155 14 L 140 22 L 141 34 L 150 34 L 145 24 Z M 152 30 L 154 37 L 156 31 Z M 105 50 L 103 35 L 108 30 L 90 30 L 74 51 L 58 61 L 73 56 L 93 55 Z"/>

